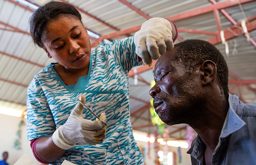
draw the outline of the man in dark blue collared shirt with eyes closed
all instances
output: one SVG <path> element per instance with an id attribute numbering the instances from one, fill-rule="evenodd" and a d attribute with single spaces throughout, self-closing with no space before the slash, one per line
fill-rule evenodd
<path id="1" fill-rule="evenodd" d="M 228 67 L 215 46 L 175 44 L 158 59 L 154 78 L 149 93 L 160 119 L 198 133 L 187 152 L 192 165 L 256 164 L 256 104 L 228 93 Z"/>

